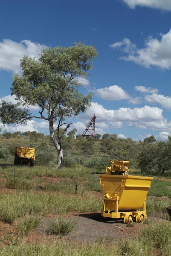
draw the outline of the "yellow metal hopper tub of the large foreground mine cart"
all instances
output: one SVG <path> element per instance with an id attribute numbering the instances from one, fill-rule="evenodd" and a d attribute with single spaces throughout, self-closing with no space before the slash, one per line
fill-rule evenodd
<path id="1" fill-rule="evenodd" d="M 118 209 L 140 209 L 146 199 L 153 177 L 99 175 L 106 206 L 115 210 L 118 197 Z"/>

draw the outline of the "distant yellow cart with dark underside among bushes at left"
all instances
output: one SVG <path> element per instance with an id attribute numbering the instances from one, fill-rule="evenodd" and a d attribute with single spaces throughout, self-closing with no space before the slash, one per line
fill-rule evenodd
<path id="1" fill-rule="evenodd" d="M 34 166 L 35 148 L 16 147 L 14 149 L 14 164 Z"/>

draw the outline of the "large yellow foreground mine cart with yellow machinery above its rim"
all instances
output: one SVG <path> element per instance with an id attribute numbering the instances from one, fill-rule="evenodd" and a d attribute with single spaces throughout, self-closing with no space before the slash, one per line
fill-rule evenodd
<path id="1" fill-rule="evenodd" d="M 106 174 L 99 175 L 103 189 L 103 208 L 101 216 L 124 218 L 124 222 L 144 222 L 146 215 L 145 201 L 153 177 L 128 175 L 128 161 L 110 160 L 111 167 L 106 167 Z"/>

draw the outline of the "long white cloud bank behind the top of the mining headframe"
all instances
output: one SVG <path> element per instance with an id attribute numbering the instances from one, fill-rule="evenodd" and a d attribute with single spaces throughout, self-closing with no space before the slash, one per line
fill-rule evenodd
<path id="1" fill-rule="evenodd" d="M 163 120 L 163 110 L 157 107 L 144 106 L 143 108 L 119 108 L 117 110 L 107 110 L 102 105 L 93 102 L 85 114 L 81 115 L 82 119 L 89 119 L 96 113 L 98 122 L 116 122 L 116 121 L 156 121 Z"/>

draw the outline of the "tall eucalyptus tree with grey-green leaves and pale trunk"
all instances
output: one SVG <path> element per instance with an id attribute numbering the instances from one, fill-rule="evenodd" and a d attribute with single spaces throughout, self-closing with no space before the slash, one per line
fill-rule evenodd
<path id="1" fill-rule="evenodd" d="M 70 119 L 90 106 L 92 94 L 81 94 L 78 77 L 87 78 L 88 70 L 93 68 L 97 51 L 93 46 L 75 43 L 71 47 L 45 48 L 40 58 L 24 56 L 20 60 L 22 75 L 13 76 L 12 95 L 17 104 L 2 102 L 0 118 L 3 124 L 26 123 L 33 118 L 49 122 L 52 142 L 58 151 L 57 168 L 61 166 L 61 136 L 71 125 Z M 18 108 L 19 105 L 23 109 Z M 38 106 L 38 115 L 29 111 L 29 105 Z M 57 136 L 54 124 L 57 123 Z M 64 126 L 63 126 L 64 125 Z M 63 134 L 59 133 L 64 127 Z"/>

